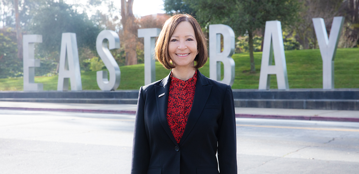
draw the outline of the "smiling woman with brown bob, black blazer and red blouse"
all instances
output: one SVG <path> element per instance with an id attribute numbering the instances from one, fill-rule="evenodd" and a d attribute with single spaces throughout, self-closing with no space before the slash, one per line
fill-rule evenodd
<path id="1" fill-rule="evenodd" d="M 140 88 L 132 174 L 237 173 L 232 89 L 198 71 L 207 61 L 206 44 L 191 15 L 164 23 L 155 53 L 172 71 Z"/>

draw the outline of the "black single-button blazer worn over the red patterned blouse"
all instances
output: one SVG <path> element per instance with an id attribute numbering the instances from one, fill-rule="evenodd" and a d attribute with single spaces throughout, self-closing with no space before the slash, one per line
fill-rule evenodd
<path id="1" fill-rule="evenodd" d="M 236 174 L 236 120 L 230 86 L 197 71 L 192 108 L 177 144 L 167 123 L 170 84 L 168 75 L 140 88 L 131 174 L 218 174 L 218 164 L 221 174 Z"/>

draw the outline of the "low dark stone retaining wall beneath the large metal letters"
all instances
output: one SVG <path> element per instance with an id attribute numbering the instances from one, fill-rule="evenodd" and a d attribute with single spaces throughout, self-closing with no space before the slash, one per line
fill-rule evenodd
<path id="1" fill-rule="evenodd" d="M 359 110 L 359 89 L 233 89 L 236 107 Z M 0 91 L 0 101 L 137 104 L 138 90 Z"/>

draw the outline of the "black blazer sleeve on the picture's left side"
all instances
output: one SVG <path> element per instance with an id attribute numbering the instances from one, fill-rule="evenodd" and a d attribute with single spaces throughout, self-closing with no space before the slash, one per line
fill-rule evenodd
<path id="1" fill-rule="evenodd" d="M 136 110 L 131 174 L 146 174 L 150 160 L 150 147 L 145 129 L 144 106 L 143 89 L 141 87 Z"/>

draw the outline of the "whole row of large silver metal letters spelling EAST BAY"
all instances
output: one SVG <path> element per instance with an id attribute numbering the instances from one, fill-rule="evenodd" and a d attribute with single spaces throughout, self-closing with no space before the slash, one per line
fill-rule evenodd
<path id="1" fill-rule="evenodd" d="M 334 17 L 330 35 L 322 18 L 313 18 L 314 30 L 323 63 L 323 89 L 334 89 L 334 58 L 344 24 L 344 17 Z M 161 29 L 138 29 L 138 37 L 144 38 L 145 85 L 155 81 L 155 39 Z M 221 47 L 223 36 L 223 47 Z M 232 59 L 235 48 L 233 29 L 228 25 L 209 25 L 209 77 L 225 84 L 233 85 L 235 79 L 235 63 Z M 107 42 L 107 41 L 108 42 Z M 270 88 L 270 76 L 276 75 L 278 89 L 289 90 L 288 75 L 284 54 L 283 35 L 280 21 L 267 21 L 263 41 L 260 90 Z M 34 43 L 42 43 L 42 35 L 27 34 L 23 36 L 23 69 L 24 91 L 43 90 L 43 84 L 34 83 L 35 67 L 40 61 L 34 59 Z M 112 30 L 103 30 L 96 39 L 96 50 L 104 62 L 106 71 L 97 71 L 97 84 L 101 90 L 116 90 L 120 85 L 121 71 L 109 50 L 120 48 L 120 38 Z M 272 65 L 272 62 L 275 65 Z M 224 66 L 221 80 L 221 62 Z M 82 90 L 78 48 L 75 33 L 62 33 L 57 90 L 68 90 L 69 79 L 71 90 Z"/>

